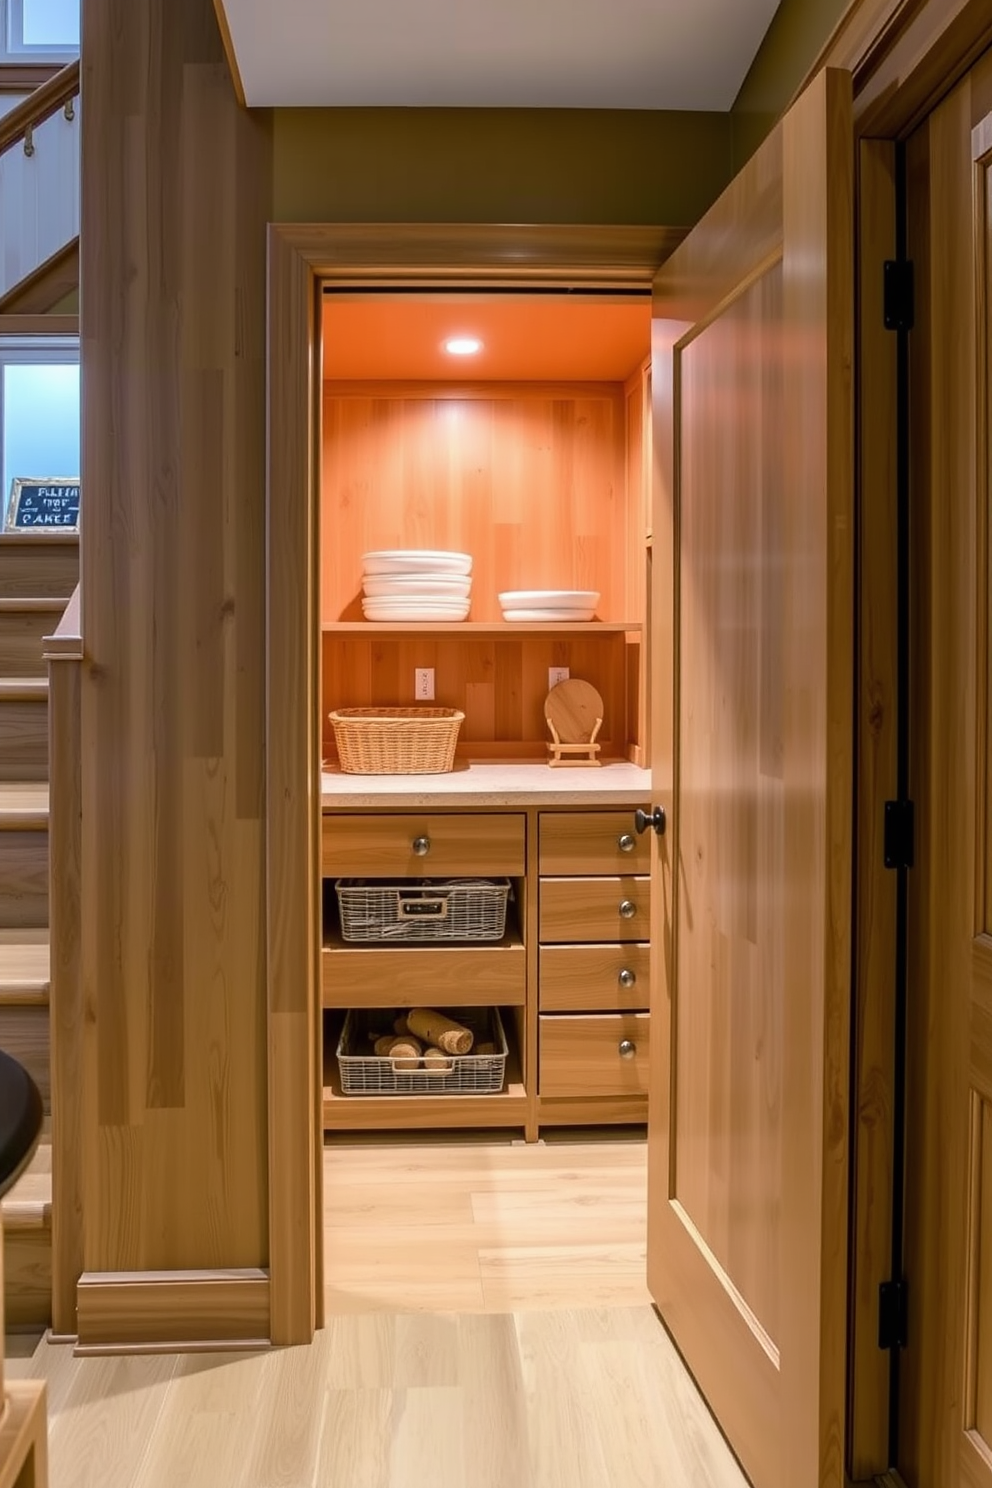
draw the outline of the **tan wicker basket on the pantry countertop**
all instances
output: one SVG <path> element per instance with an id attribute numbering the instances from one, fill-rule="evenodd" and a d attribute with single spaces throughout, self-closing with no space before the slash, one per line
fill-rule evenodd
<path id="1" fill-rule="evenodd" d="M 336 708 L 329 714 L 350 775 L 442 775 L 455 766 L 458 708 Z"/>

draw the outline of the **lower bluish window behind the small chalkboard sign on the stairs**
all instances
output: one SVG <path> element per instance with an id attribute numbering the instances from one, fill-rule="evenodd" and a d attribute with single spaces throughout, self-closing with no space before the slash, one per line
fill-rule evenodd
<path id="1" fill-rule="evenodd" d="M 18 476 L 79 476 L 79 342 L 0 339 L 0 510 Z M 0 522 L 0 527 L 3 524 Z"/>

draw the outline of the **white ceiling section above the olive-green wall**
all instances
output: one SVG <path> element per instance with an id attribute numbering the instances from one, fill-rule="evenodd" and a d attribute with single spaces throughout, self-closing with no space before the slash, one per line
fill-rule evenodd
<path id="1" fill-rule="evenodd" d="M 778 0 L 222 0 L 250 106 L 718 109 Z"/>

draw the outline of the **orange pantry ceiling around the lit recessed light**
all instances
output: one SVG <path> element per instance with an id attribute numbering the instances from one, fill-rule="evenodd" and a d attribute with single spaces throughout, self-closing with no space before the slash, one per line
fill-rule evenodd
<path id="1" fill-rule="evenodd" d="M 482 350 L 452 357 L 449 336 Z M 620 382 L 651 347 L 650 299 L 324 298 L 324 379 Z"/>

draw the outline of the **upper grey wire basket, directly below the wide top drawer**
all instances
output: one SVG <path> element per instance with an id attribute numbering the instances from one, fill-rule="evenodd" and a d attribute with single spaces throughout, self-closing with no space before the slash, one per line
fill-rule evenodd
<path id="1" fill-rule="evenodd" d="M 345 940 L 498 940 L 509 878 L 376 878 L 335 882 Z"/>

